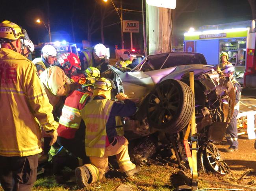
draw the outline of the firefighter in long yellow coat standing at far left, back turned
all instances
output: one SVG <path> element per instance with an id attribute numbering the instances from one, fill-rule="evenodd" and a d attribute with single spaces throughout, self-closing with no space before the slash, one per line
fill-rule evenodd
<path id="1" fill-rule="evenodd" d="M 4 190 L 30 191 L 42 151 L 37 122 L 51 136 L 51 145 L 58 123 L 36 67 L 25 57 L 33 51 L 26 30 L 3 21 L 0 45 L 0 182 Z"/>

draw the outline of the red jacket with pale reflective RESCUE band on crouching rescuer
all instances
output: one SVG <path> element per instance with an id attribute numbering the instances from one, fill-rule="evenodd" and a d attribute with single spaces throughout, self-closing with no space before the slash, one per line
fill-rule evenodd
<path id="1" fill-rule="evenodd" d="M 89 97 L 90 95 L 75 90 L 66 98 L 59 118 L 58 136 L 67 139 L 75 137 L 75 133 L 79 129 L 82 120 L 80 110 L 83 109 Z"/>

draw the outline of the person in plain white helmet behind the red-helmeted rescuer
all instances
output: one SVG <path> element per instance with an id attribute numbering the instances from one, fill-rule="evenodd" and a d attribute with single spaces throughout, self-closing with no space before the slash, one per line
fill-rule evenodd
<path id="1" fill-rule="evenodd" d="M 56 62 L 57 51 L 56 49 L 50 45 L 46 44 L 41 50 L 41 58 L 35 58 L 32 62 L 37 67 L 38 75 L 41 75 L 46 68 L 50 67 Z"/>

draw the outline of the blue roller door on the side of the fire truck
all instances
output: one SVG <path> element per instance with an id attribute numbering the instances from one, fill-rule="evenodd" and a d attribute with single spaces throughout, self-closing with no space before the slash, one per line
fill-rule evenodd
<path id="1" fill-rule="evenodd" d="M 219 64 L 219 40 L 196 41 L 196 52 L 204 55 L 207 64 Z"/>

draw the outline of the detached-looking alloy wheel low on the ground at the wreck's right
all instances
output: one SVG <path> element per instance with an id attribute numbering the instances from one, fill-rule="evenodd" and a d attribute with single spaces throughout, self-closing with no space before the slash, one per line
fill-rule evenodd
<path id="1" fill-rule="evenodd" d="M 231 173 L 229 166 L 221 160 L 219 149 L 213 143 L 206 144 L 202 155 L 206 171 L 211 171 L 222 176 Z"/>

